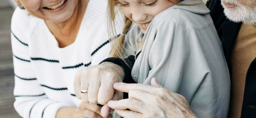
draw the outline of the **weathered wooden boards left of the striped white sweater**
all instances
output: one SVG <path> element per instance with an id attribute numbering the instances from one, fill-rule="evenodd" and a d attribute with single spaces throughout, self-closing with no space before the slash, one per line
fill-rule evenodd
<path id="1" fill-rule="evenodd" d="M 21 118 L 13 108 L 14 73 L 11 51 L 11 16 L 7 0 L 0 0 L 0 118 Z"/>

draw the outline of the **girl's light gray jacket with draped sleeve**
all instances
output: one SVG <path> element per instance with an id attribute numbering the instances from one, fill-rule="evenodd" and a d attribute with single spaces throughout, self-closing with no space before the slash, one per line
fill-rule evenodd
<path id="1" fill-rule="evenodd" d="M 185 0 L 194 4 L 201 0 Z M 135 46 L 139 38 L 143 48 Z M 230 78 L 222 45 L 204 4 L 174 5 L 159 13 L 145 35 L 134 24 L 125 38 L 125 52 L 136 55 L 133 79 L 160 85 L 183 95 L 201 118 L 226 118 Z"/>

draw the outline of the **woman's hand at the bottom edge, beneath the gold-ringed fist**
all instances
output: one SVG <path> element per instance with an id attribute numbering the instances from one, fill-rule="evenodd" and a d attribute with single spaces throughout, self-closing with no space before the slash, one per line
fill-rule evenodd
<path id="1" fill-rule="evenodd" d="M 75 110 L 73 118 L 102 118 L 101 107 L 96 104 L 81 103 Z M 109 116 L 108 118 L 111 118 Z"/>

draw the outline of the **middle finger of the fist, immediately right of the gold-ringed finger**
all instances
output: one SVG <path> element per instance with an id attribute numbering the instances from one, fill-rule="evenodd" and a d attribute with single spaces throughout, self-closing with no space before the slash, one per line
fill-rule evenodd
<path id="1" fill-rule="evenodd" d="M 96 76 L 96 79 L 93 79 L 88 88 L 88 101 L 92 104 L 98 104 L 98 91 L 100 87 L 99 77 Z"/>

